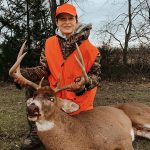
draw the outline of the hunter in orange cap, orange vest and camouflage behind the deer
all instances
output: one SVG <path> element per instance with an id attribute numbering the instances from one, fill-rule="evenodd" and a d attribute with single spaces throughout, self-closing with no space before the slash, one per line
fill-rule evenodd
<path id="1" fill-rule="evenodd" d="M 71 115 L 77 115 L 82 111 L 93 109 L 93 101 L 97 86 L 100 83 L 100 53 L 88 40 L 91 24 L 83 25 L 78 22 L 76 8 L 71 4 L 63 4 L 56 9 L 56 35 L 48 38 L 45 50 L 41 53 L 40 64 L 37 67 L 25 68 L 21 74 L 33 81 L 39 81 L 42 77 L 48 79 L 50 87 L 54 89 L 60 77 L 60 85 L 64 86 L 76 82 L 72 89 L 61 91 L 57 94 L 62 99 L 74 101 L 80 109 Z M 85 69 L 89 77 L 86 85 L 80 85 L 84 80 L 81 69 L 74 59 L 78 44 L 85 63 Z M 15 82 L 25 85 L 22 76 Z M 33 90 L 28 89 L 26 98 L 32 97 Z M 21 145 L 21 149 L 34 149 L 42 143 L 36 132 L 36 126 L 28 121 L 30 133 Z"/>

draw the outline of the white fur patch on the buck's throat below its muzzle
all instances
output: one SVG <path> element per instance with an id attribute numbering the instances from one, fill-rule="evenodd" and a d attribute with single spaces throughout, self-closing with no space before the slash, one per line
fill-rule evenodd
<path id="1" fill-rule="evenodd" d="M 38 131 L 48 131 L 54 128 L 55 124 L 52 121 L 39 121 L 36 122 L 37 130 Z"/>

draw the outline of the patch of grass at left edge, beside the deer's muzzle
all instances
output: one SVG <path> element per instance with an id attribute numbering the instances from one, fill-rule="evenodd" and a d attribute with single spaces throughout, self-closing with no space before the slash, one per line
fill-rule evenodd
<path id="1" fill-rule="evenodd" d="M 1 150 L 15 150 L 23 137 L 25 107 L 23 91 L 14 86 L 0 87 L 0 146 Z"/>

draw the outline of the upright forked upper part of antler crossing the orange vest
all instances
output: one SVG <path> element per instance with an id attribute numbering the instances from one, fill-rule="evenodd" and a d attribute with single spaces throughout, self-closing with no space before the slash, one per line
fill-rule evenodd
<path id="1" fill-rule="evenodd" d="M 86 73 L 84 60 L 83 60 L 81 51 L 80 51 L 79 46 L 78 46 L 77 43 L 76 43 L 76 48 L 77 48 L 77 52 L 78 52 L 78 55 L 79 55 L 80 60 L 78 59 L 78 57 L 77 57 L 76 55 L 75 55 L 74 57 L 75 57 L 76 61 L 78 62 L 79 66 L 80 66 L 80 68 L 81 68 L 81 70 L 82 70 L 82 74 L 83 74 L 83 76 L 84 76 L 85 83 L 88 83 L 89 77 L 88 77 L 88 75 L 87 75 L 87 73 Z"/>

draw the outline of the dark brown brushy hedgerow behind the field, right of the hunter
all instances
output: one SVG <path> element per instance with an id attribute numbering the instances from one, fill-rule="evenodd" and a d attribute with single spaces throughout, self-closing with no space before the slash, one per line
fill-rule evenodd
<path id="1" fill-rule="evenodd" d="M 101 52 L 102 80 L 110 81 L 149 81 L 150 80 L 150 48 L 146 46 L 128 49 L 127 64 L 123 62 L 120 48 L 103 44 Z"/>

